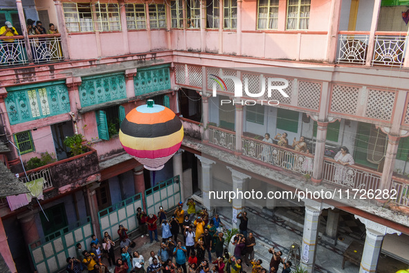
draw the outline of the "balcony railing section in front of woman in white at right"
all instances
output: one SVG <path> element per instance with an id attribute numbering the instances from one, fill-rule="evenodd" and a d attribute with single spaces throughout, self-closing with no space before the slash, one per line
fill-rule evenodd
<path id="1" fill-rule="evenodd" d="M 344 188 L 376 190 L 381 184 L 381 173 L 358 166 L 343 166 L 325 158 L 322 179 Z"/>

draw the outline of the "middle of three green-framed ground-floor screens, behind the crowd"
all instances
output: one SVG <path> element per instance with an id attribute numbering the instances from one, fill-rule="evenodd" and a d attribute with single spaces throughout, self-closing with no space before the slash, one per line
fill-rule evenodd
<path id="1" fill-rule="evenodd" d="M 123 224 L 132 232 L 138 228 L 136 220 L 136 209 L 142 208 L 142 195 L 138 193 L 132 197 L 122 200 L 98 212 L 98 221 L 100 222 L 101 236 L 107 231 L 113 240 L 119 238 L 118 226 Z"/>

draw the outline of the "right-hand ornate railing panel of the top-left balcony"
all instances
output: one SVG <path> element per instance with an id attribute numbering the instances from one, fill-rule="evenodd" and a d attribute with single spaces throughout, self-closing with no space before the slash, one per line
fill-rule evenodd
<path id="1" fill-rule="evenodd" d="M 64 60 L 60 35 L 37 35 L 29 37 L 33 62 L 58 62 Z"/>

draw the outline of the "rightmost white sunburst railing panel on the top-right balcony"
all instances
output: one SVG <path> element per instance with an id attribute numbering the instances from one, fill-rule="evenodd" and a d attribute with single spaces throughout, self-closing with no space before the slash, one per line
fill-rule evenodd
<path id="1" fill-rule="evenodd" d="M 401 67 L 403 65 L 406 36 L 376 35 L 374 42 L 372 65 L 385 65 L 388 67 Z"/>

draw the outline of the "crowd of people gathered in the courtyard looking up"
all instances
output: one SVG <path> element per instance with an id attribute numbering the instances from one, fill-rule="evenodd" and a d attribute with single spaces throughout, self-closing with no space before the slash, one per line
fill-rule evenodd
<path id="1" fill-rule="evenodd" d="M 276 273 L 278 266 L 283 264 L 282 272 L 291 272 L 291 262 L 281 258 L 282 252 L 269 249 L 273 254 L 268 268 L 262 267 L 262 261 L 254 258 L 255 237 L 248 232 L 248 218 L 246 212 L 240 212 L 239 232 L 231 239 L 230 252 L 224 248 L 224 225 L 216 213 L 210 217 L 208 211 L 196 211 L 194 200 L 188 200 L 188 210 L 183 210 L 183 203 L 179 203 L 173 211 L 170 221 L 167 219 L 163 207 L 158 215 L 145 213 L 137 209 L 142 236 L 149 236 L 150 242 L 158 241 L 158 226 L 161 227 L 162 242 L 159 249 L 152 250 L 149 258 L 144 258 L 134 250 L 136 243 L 129 240 L 127 228 L 121 224 L 118 227 L 120 242 L 120 257 L 113 252 L 115 243 L 107 232 L 104 233 L 102 244 L 95 235 L 91 236 L 90 250 L 77 245 L 77 258 L 67 258 L 66 270 L 71 273 L 82 272 L 83 267 L 91 273 L 108 272 L 109 266 L 115 265 L 115 273 L 241 273 L 246 265 L 252 273 Z M 181 236 L 180 236 L 181 235 Z M 212 254 L 215 259 L 212 259 Z"/>

